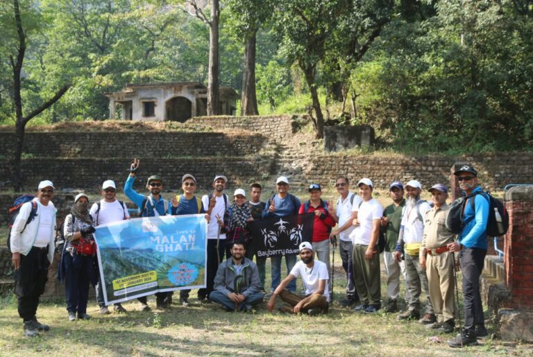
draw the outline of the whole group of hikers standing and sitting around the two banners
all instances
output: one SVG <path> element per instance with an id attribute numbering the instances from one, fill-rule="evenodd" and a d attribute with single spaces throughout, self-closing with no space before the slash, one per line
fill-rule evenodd
<path id="1" fill-rule="evenodd" d="M 198 289 L 203 304 L 217 302 L 227 311 L 251 311 L 264 299 L 267 258 L 249 249 L 253 237 L 246 229 L 251 220 L 271 216 L 292 216 L 314 213 L 312 241 L 299 246 L 301 261 L 296 255 L 285 255 L 287 274 L 282 279 L 282 256 L 271 256 L 271 296 L 267 310 L 275 307 L 279 296 L 285 305 L 280 311 L 316 315 L 328 313 L 331 297 L 330 246 L 337 245 L 342 266 L 346 271 L 346 296 L 339 303 L 354 311 L 375 313 L 382 306 L 380 288 L 380 236 L 384 241 L 384 268 L 387 273 L 387 313 L 398 311 L 400 275 L 403 276 L 407 310 L 398 320 L 419 320 L 432 329 L 450 333 L 455 329 L 455 270 L 462 270 L 464 294 L 464 328 L 452 340 L 451 347 L 477 344 L 477 338 L 487 336 L 479 290 L 479 278 L 487 252 L 486 227 L 489 215 L 487 200 L 475 195 L 475 204 L 466 204 L 464 229 L 455 236 L 444 224 L 448 211 L 448 188 L 434 184 L 428 191 L 432 202 L 421 199 L 422 185 L 416 180 L 407 184 L 395 181 L 389 186 L 392 203 L 383 209 L 373 198 L 373 182 L 363 178 L 357 182 L 358 195 L 350 192 L 347 177 L 338 177 L 339 193 L 336 204 L 321 198 L 320 184 L 308 188 L 309 200 L 302 203 L 289 193 L 285 176 L 276 180 L 277 193 L 261 201 L 262 187 L 252 184 L 250 199 L 244 189 L 234 192 L 233 200 L 223 193 L 228 179 L 216 175 L 212 192 L 195 196 L 196 179 L 182 177 L 183 193 L 171 200 L 162 198 L 164 180 L 152 175 L 146 181 L 148 195 L 133 188 L 139 170 L 139 160 L 130 166 L 124 193 L 139 208 L 142 217 L 204 214 L 208 221 L 207 284 Z M 466 195 L 480 190 L 477 171 L 463 166 L 455 172 Z M 15 294 L 19 315 L 24 322 L 24 334 L 37 336 L 49 326 L 37 321 L 39 297 L 44 291 L 48 266 L 54 252 L 56 209 L 51 200 L 55 188 L 51 181 L 40 182 L 37 197 L 22 205 L 10 235 L 12 263 L 15 268 Z M 96 286 L 96 300 L 101 314 L 110 313 L 105 306 L 102 281 L 95 261 L 95 227 L 129 219 L 124 202 L 117 200 L 117 186 L 112 180 L 102 185 L 102 199 L 89 207 L 89 197 L 76 195 L 71 213 L 65 218 L 62 233 L 65 247 L 58 276 L 65 281 L 68 319 L 90 319 L 87 299 L 90 284 Z M 31 218 L 32 209 L 37 214 Z M 217 242 L 219 244 L 217 244 Z M 223 258 L 226 256 L 226 260 Z M 316 257 L 316 259 L 315 259 Z M 219 263 L 221 262 L 221 263 Z M 296 292 L 296 279 L 303 281 L 305 291 Z M 238 279 L 238 284 L 235 284 Z M 420 301 L 421 291 L 427 295 Z M 179 302 L 189 305 L 190 290 L 180 290 Z M 157 293 L 156 306 L 165 308 L 172 302 L 172 293 Z M 146 297 L 139 299 L 140 309 L 149 311 Z M 113 309 L 125 313 L 121 304 Z"/>

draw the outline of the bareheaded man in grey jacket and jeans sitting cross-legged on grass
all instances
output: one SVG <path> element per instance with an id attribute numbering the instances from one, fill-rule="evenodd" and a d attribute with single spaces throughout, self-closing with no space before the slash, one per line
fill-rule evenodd
<path id="1" fill-rule="evenodd" d="M 209 295 L 226 311 L 252 311 L 253 306 L 263 301 L 259 272 L 253 261 L 244 257 L 244 243 L 235 241 L 230 259 L 219 265 L 214 277 L 214 290 Z"/>

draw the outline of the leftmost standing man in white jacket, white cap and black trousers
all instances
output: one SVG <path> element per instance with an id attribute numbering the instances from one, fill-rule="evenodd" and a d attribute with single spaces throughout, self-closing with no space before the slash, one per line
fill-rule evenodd
<path id="1" fill-rule="evenodd" d="M 37 321 L 35 313 L 39 298 L 44 293 L 48 267 L 53 260 L 57 211 L 51 202 L 53 193 L 51 181 L 40 182 L 37 197 L 22 205 L 11 229 L 10 250 L 15 268 L 15 295 L 19 316 L 24 321 L 24 335 L 28 337 L 50 329 L 48 325 Z"/>

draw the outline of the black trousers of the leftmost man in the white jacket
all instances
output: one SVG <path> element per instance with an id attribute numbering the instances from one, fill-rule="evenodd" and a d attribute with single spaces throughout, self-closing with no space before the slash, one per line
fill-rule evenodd
<path id="1" fill-rule="evenodd" d="M 15 270 L 15 295 L 19 316 L 30 321 L 37 313 L 39 297 L 48 279 L 48 248 L 32 247 L 28 255 L 20 254 L 20 268 Z"/>

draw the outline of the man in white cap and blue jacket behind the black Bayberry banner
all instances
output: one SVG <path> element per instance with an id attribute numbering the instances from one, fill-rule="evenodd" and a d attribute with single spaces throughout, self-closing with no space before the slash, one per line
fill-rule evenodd
<path id="1" fill-rule="evenodd" d="M 289 180 L 287 177 L 278 177 L 278 180 L 276 180 L 276 189 L 278 189 L 278 194 L 273 195 L 264 206 L 263 218 L 273 216 L 285 217 L 298 214 L 301 202 L 295 195 L 289 193 Z M 276 290 L 281 281 L 281 258 L 282 256 L 280 255 L 270 257 L 272 275 L 271 292 Z M 286 255 L 285 264 L 287 264 L 287 274 L 289 274 L 294 264 L 296 264 L 296 255 Z M 296 292 L 296 279 L 290 282 L 288 288 L 291 293 Z"/>

